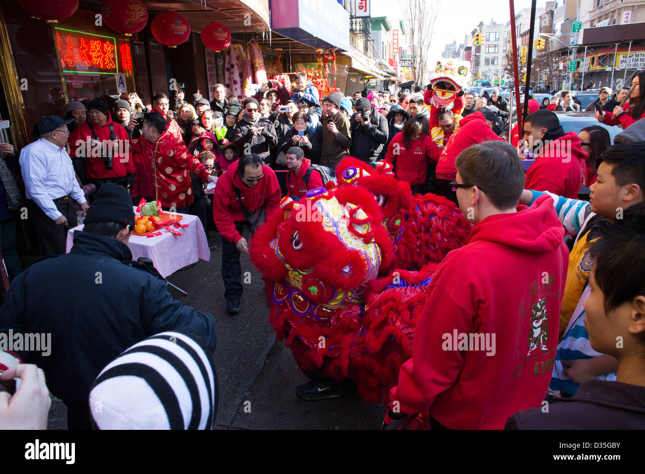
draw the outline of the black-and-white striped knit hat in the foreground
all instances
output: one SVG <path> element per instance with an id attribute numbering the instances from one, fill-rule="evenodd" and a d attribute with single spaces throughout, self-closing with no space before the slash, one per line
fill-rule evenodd
<path id="1" fill-rule="evenodd" d="M 90 411 L 95 426 L 99 430 L 212 429 L 217 373 L 211 352 L 194 336 L 176 331 L 137 342 L 94 381 Z"/>

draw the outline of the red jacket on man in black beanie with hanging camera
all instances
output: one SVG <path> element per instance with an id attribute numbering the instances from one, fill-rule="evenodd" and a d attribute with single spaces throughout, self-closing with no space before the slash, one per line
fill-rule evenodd
<path id="1" fill-rule="evenodd" d="M 110 143 L 110 124 L 114 124 L 114 134 L 118 141 L 118 151 L 125 151 L 126 153 L 112 153 L 112 170 L 105 169 L 105 159 L 103 156 L 94 156 L 99 152 L 99 148 L 95 147 L 90 142 L 90 150 L 88 152 L 88 139 L 90 141 L 96 137 L 101 142 Z M 104 125 L 92 124 L 94 127 L 94 134 L 90 129 L 90 119 L 83 125 L 79 126 L 74 132 L 70 133 L 68 142 L 70 143 L 70 157 L 74 160 L 76 157 L 85 157 L 85 175 L 88 178 L 104 179 L 104 178 L 121 178 L 128 173 L 134 173 L 134 163 L 130 153 L 127 151 L 130 145 L 130 137 L 123 126 L 112 121 L 112 117 L 108 115 L 108 121 Z M 106 146 L 103 148 L 106 149 Z M 103 151 L 103 148 L 101 151 Z"/>

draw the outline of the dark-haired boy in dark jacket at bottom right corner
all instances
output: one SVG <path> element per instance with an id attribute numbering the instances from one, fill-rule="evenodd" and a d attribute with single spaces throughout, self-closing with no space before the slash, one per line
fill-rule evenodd
<path id="1" fill-rule="evenodd" d="M 600 179 L 600 177 L 599 177 Z M 600 225 L 593 243 L 584 328 L 593 350 L 615 357 L 615 382 L 587 380 L 549 410 L 515 413 L 506 429 L 642 430 L 645 426 L 645 205 Z"/>

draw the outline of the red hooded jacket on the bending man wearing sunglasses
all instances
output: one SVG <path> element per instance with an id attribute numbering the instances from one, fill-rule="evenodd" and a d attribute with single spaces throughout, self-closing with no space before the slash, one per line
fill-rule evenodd
<path id="1" fill-rule="evenodd" d="M 239 189 L 240 197 L 244 202 L 244 208 L 248 211 L 255 211 L 266 204 L 264 215 L 266 219 L 276 211 L 280 210 L 280 185 L 275 173 L 271 168 L 262 165 L 264 177 L 249 188 L 237 175 L 239 160 L 228 166 L 226 173 L 217 180 L 215 192 L 213 193 L 213 221 L 217 230 L 229 242 L 237 244 L 242 236 L 235 229 L 235 222 L 244 222 L 244 215 L 240 206 L 237 193 L 233 189 Z"/>

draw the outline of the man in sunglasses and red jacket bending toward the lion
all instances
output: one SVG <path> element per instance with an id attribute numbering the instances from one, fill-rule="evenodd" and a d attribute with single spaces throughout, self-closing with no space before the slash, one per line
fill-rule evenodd
<path id="1" fill-rule="evenodd" d="M 251 153 L 228 166 L 213 194 L 213 221 L 222 236 L 222 280 L 226 312 L 240 311 L 242 268 L 240 252 L 248 253 L 244 226 L 255 232 L 266 217 L 280 210 L 280 185 L 262 158 Z"/>

